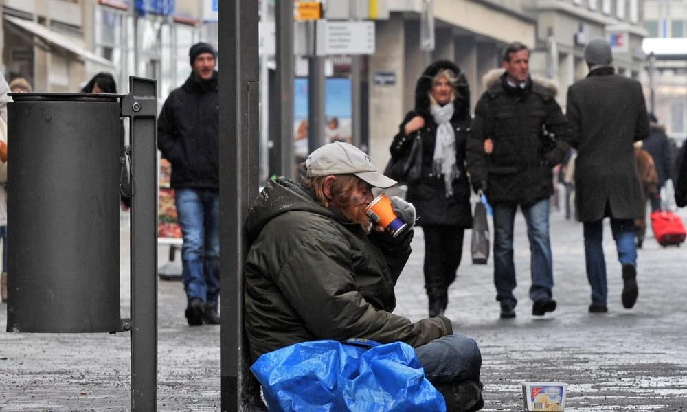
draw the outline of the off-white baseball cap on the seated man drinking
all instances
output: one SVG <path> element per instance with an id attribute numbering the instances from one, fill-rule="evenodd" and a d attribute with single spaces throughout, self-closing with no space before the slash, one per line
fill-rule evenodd
<path id="1" fill-rule="evenodd" d="M 308 177 L 354 174 L 374 187 L 392 187 L 397 183 L 377 172 L 365 152 L 343 141 L 335 141 L 315 150 L 305 164 Z"/>

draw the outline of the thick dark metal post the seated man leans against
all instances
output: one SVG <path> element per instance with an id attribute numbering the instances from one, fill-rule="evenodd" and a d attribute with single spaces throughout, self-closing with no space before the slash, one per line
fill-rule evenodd
<path id="1" fill-rule="evenodd" d="M 284 1 L 280 3 L 285 3 Z M 292 5 L 293 7 L 293 5 Z M 258 2 L 220 2 L 220 397 L 221 411 L 249 411 L 260 387 L 243 334 L 243 222 L 258 194 Z M 290 130 L 290 128 L 289 128 Z"/>

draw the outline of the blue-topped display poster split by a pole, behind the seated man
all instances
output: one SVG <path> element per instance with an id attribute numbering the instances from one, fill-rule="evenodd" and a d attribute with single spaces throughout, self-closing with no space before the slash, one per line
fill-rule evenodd
<path id="1" fill-rule="evenodd" d="M 308 157 L 308 79 L 295 78 L 293 93 L 293 153 L 297 162 Z M 328 78 L 325 82 L 324 114 L 327 141 L 352 142 L 351 82 Z"/>

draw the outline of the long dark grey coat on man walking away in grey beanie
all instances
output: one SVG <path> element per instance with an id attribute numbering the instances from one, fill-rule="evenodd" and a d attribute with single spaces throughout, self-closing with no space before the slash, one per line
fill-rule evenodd
<path id="1" fill-rule="evenodd" d="M 644 216 L 635 141 L 649 135 L 642 85 L 600 67 L 567 91 L 570 144 L 577 149 L 575 191 L 581 222 Z"/>

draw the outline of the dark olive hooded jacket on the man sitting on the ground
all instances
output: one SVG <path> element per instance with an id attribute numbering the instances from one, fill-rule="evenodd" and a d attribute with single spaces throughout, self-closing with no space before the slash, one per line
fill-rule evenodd
<path id="1" fill-rule="evenodd" d="M 365 235 L 286 178 L 270 180 L 246 220 L 245 331 L 255 361 L 281 347 L 366 338 L 414 347 L 453 334 L 445 317 L 392 314 L 413 231 Z"/>

